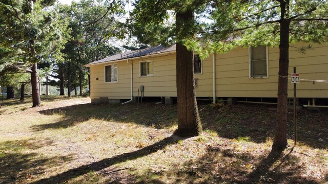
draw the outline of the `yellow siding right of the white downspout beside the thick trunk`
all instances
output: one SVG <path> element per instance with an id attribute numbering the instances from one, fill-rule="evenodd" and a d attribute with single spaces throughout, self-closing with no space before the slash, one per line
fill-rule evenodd
<path id="1" fill-rule="evenodd" d="M 300 47 L 302 44 L 295 45 Z M 290 48 L 289 73 L 296 66 L 300 79 L 328 80 L 328 45 L 314 44 L 305 54 Z M 279 48 L 268 49 L 269 78 L 249 78 L 248 48 L 235 49 L 216 55 L 217 97 L 277 97 Z M 289 80 L 289 97 L 293 97 L 293 84 Z M 297 84 L 299 98 L 328 98 L 328 83 L 304 82 Z"/>

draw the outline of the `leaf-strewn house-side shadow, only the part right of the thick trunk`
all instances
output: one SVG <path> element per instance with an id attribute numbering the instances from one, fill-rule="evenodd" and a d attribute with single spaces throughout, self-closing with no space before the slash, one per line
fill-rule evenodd
<path id="1" fill-rule="evenodd" d="M 203 129 L 218 133 L 221 137 L 265 143 L 273 138 L 276 124 L 276 106 L 264 104 L 242 104 L 200 106 Z M 312 148 L 328 148 L 328 109 L 298 110 L 298 141 Z M 294 112 L 288 110 L 288 138 L 294 139 Z"/>

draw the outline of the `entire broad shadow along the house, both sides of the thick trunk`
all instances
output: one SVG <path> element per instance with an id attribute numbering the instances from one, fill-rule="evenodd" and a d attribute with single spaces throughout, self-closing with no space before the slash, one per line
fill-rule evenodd
<path id="1" fill-rule="evenodd" d="M 275 105 L 247 104 L 220 108 L 199 105 L 203 129 L 209 129 L 228 139 L 248 139 L 265 143 L 273 138 L 276 123 Z M 90 119 L 114 122 L 133 122 L 157 129 L 170 127 L 177 122 L 177 106 L 163 104 L 80 104 L 39 111 L 46 115 L 61 114 L 57 122 L 33 126 L 34 130 L 67 128 Z M 298 140 L 312 148 L 326 149 L 328 146 L 328 110 L 320 112 L 302 109 L 298 112 Z M 288 136 L 293 139 L 293 113 L 288 113 Z"/>

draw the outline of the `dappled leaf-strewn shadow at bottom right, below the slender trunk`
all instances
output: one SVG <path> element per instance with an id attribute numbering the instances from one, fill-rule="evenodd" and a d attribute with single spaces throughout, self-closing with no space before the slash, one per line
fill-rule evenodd
<path id="1" fill-rule="evenodd" d="M 267 156 L 265 156 L 267 155 Z M 176 174 L 176 183 L 320 183 L 304 177 L 304 166 L 290 154 L 279 152 L 254 156 L 247 152 L 209 147 L 207 154 L 186 163 Z M 168 171 L 170 172 L 170 171 Z M 187 178 L 187 180 L 186 180 Z"/>

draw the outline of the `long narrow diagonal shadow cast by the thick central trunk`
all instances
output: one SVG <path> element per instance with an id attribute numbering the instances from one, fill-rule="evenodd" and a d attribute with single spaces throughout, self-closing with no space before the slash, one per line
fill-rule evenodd
<path id="1" fill-rule="evenodd" d="M 66 180 L 70 180 L 70 179 L 76 178 L 78 176 L 87 174 L 89 172 L 100 171 L 100 170 L 103 170 L 110 166 L 113 166 L 115 164 L 126 162 L 127 160 L 133 160 L 133 159 L 136 159 L 139 157 L 149 155 L 151 153 L 154 153 L 158 150 L 165 148 L 167 145 L 176 144 L 179 140 L 181 140 L 180 137 L 171 135 L 170 137 L 166 137 L 165 139 L 163 139 L 157 143 L 154 143 L 153 145 L 144 147 L 140 150 L 136 150 L 136 151 L 133 151 L 130 153 L 123 153 L 123 154 L 116 155 L 111 158 L 106 158 L 106 159 L 100 160 L 98 162 L 95 162 L 95 163 L 92 163 L 89 165 L 84 165 L 84 166 L 80 166 L 75 169 L 70 169 L 66 172 L 60 173 L 60 174 L 52 176 L 50 178 L 38 180 L 33 183 L 61 183 Z"/>

